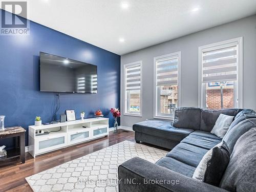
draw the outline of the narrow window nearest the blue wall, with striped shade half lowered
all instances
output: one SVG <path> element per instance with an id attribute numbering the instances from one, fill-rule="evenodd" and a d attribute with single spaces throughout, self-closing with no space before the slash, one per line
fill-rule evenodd
<path id="1" fill-rule="evenodd" d="M 124 115 L 141 116 L 142 62 L 124 65 Z"/>

